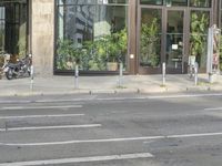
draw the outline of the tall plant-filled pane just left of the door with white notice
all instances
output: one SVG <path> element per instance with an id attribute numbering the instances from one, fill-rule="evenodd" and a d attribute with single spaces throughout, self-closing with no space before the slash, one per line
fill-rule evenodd
<path id="1" fill-rule="evenodd" d="M 140 65 L 160 66 L 161 10 L 142 9 L 140 34 Z"/>

